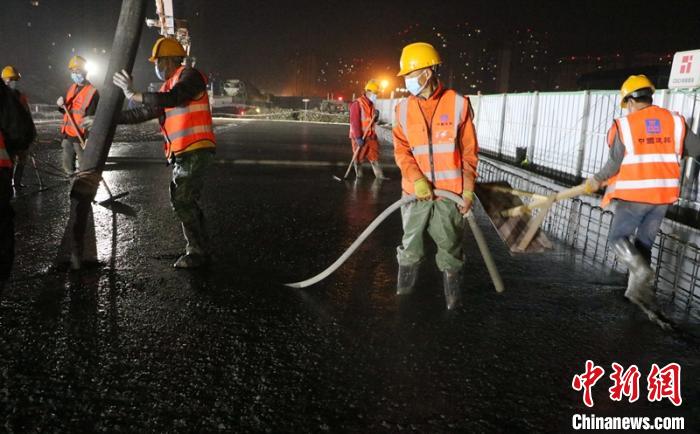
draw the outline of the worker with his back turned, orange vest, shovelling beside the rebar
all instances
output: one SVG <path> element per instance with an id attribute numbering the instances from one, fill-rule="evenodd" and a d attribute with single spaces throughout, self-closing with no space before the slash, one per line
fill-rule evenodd
<path id="1" fill-rule="evenodd" d="M 700 156 L 700 139 L 683 116 L 653 105 L 654 85 L 632 75 L 620 89 L 628 114 L 608 132 L 609 159 L 586 180 L 586 191 L 607 182 L 602 206 L 615 204 L 609 241 L 630 276 L 625 297 L 657 311 L 652 291 L 651 250 L 669 205 L 678 199 L 684 156 Z"/>

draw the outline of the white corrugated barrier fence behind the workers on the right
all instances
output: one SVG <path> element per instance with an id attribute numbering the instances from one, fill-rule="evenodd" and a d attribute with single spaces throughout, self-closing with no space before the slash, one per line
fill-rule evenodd
<path id="1" fill-rule="evenodd" d="M 482 152 L 515 161 L 521 149 L 538 169 L 572 179 L 603 166 L 607 131 L 622 115 L 617 91 L 473 95 L 470 100 Z M 398 101 L 377 102 L 382 121 L 393 124 Z M 700 92 L 663 89 L 654 103 L 679 112 L 698 131 Z"/>

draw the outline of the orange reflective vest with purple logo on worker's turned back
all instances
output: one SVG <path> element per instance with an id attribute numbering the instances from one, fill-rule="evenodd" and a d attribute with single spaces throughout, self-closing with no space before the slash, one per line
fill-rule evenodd
<path id="1" fill-rule="evenodd" d="M 657 106 L 615 119 L 608 144 L 619 135 L 625 157 L 608 181 L 601 205 L 612 199 L 656 205 L 678 200 L 685 128 L 683 116 Z"/>

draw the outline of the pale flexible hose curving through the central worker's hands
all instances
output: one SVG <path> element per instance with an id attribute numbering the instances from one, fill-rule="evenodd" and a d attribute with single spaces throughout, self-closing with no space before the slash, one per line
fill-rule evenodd
<path id="1" fill-rule="evenodd" d="M 460 196 L 450 191 L 434 190 L 433 193 L 437 197 L 442 197 L 451 200 L 459 206 L 464 206 L 464 200 Z M 372 221 L 372 223 L 370 223 L 370 225 L 367 226 L 367 229 L 362 231 L 360 236 L 357 237 L 357 239 L 350 245 L 350 247 L 348 247 L 348 249 L 334 263 L 332 263 L 330 267 L 326 268 L 314 277 L 303 280 L 301 282 L 286 283 L 285 285 L 289 286 L 290 288 L 306 288 L 324 280 L 326 277 L 330 276 L 333 272 L 335 272 L 335 270 L 340 268 L 340 266 L 343 265 L 343 263 L 345 263 L 345 261 L 347 261 L 353 253 L 355 253 L 355 250 L 357 250 L 357 248 L 360 247 L 360 245 L 367 239 L 367 237 L 369 237 L 372 234 L 372 232 L 374 232 L 374 230 L 377 229 L 377 227 L 379 227 L 379 225 L 384 220 L 386 220 L 387 217 L 389 217 L 394 211 L 401 208 L 403 205 L 414 202 L 415 200 L 416 197 L 414 195 L 404 196 L 401 199 L 397 200 L 396 202 L 391 204 L 387 209 L 385 209 L 381 214 L 379 214 L 379 216 L 377 216 L 377 218 L 375 218 Z M 501 280 L 501 275 L 498 272 L 498 268 L 496 268 L 496 262 L 493 260 L 493 256 L 491 255 L 491 251 L 489 250 L 486 238 L 484 237 L 484 234 L 481 232 L 481 229 L 477 225 L 476 220 L 474 219 L 474 214 L 472 214 L 471 210 L 467 213 L 465 218 L 469 223 L 469 228 L 474 234 L 474 239 L 476 240 L 476 244 L 479 247 L 479 251 L 481 251 L 481 256 L 484 259 L 484 263 L 486 263 L 486 268 L 488 269 L 489 275 L 491 276 L 491 281 L 493 282 L 496 291 L 503 292 L 505 288 L 503 286 L 503 280 Z"/>

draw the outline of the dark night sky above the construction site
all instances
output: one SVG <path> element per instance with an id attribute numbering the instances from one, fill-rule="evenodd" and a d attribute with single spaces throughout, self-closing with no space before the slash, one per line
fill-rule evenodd
<path id="1" fill-rule="evenodd" d="M 357 79 L 391 77 L 406 41 L 432 27 L 466 22 L 484 29 L 495 46 L 513 39 L 516 29 L 533 29 L 547 35 L 547 56 L 552 58 L 700 48 L 697 1 L 654 3 L 655 8 L 641 1 L 176 0 L 175 8 L 178 17 L 190 22 L 200 69 L 289 94 L 299 92 L 298 85 L 293 86 L 299 63 L 316 70 L 328 59 L 342 58 L 346 63 L 361 59 L 369 66 Z M 42 87 L 33 89 L 35 94 L 63 89 L 72 49 L 106 62 L 120 4 L 38 0 L 33 6 L 30 0 L 3 0 L 0 63 L 15 64 L 23 71 L 25 88 Z M 148 15 L 155 16 L 153 4 Z M 421 32 L 400 34 L 416 24 Z M 137 84 L 154 80 L 146 58 L 156 37 L 155 29 L 144 29 L 135 68 Z M 306 91 L 322 89 L 320 85 Z"/>

